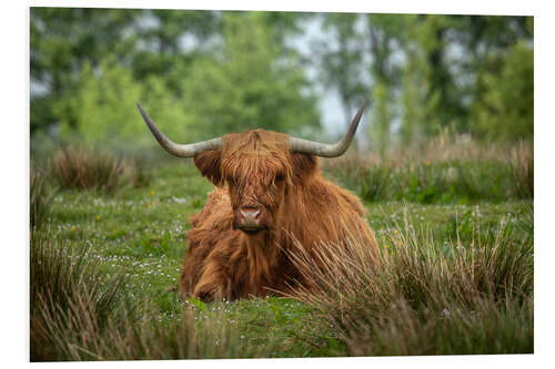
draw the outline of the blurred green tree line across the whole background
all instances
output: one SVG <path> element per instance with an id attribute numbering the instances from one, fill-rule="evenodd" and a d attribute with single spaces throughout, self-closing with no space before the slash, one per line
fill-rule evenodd
<path id="1" fill-rule="evenodd" d="M 135 101 L 175 141 L 315 137 L 326 90 L 345 121 L 370 96 L 380 151 L 444 130 L 533 137 L 529 17 L 31 8 L 30 27 L 31 147 L 150 144 Z"/>

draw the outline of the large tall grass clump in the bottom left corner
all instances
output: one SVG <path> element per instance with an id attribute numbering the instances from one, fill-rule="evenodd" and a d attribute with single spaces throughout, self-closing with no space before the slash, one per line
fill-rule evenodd
<path id="1" fill-rule="evenodd" d="M 85 249 L 56 243 L 48 228 L 30 240 L 31 360 L 85 356 L 123 306 L 124 279 L 103 278 Z"/>

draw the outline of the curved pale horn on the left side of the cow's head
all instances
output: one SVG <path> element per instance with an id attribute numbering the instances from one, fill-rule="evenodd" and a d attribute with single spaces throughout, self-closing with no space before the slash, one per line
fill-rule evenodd
<path id="1" fill-rule="evenodd" d="M 223 147 L 223 140 L 221 137 L 212 139 L 209 141 L 201 141 L 192 144 L 181 145 L 168 139 L 152 122 L 147 112 L 142 109 L 141 104 L 137 103 L 142 119 L 149 126 L 150 131 L 157 139 L 158 143 L 170 154 L 181 157 L 192 157 L 203 151 L 221 150 Z"/>

